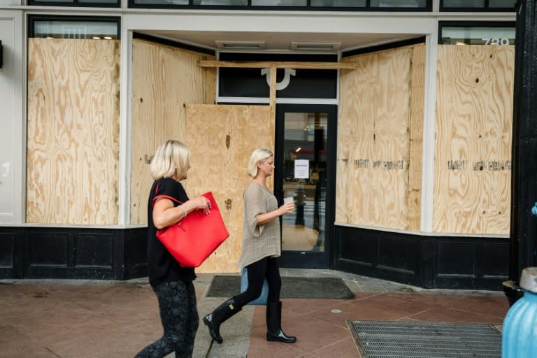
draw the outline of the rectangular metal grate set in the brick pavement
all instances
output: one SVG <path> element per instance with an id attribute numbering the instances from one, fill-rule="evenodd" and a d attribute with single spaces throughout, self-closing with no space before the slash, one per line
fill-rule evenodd
<path id="1" fill-rule="evenodd" d="M 501 357 L 489 324 L 347 321 L 362 358 Z"/>

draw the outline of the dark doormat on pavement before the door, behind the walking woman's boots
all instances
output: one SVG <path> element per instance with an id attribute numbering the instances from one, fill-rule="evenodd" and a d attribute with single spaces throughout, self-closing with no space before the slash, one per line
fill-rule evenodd
<path id="1" fill-rule="evenodd" d="M 231 297 L 241 293 L 241 276 L 215 275 L 208 297 Z M 355 297 L 341 278 L 282 277 L 282 299 L 352 299 Z"/>

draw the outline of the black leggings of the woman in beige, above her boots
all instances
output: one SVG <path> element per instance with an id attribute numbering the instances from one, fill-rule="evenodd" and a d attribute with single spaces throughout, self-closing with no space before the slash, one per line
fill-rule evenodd
<path id="1" fill-rule="evenodd" d="M 267 302 L 275 303 L 280 301 L 282 278 L 280 277 L 278 259 L 276 257 L 264 257 L 246 267 L 248 268 L 248 289 L 235 296 L 236 305 L 242 308 L 248 302 L 254 301 L 261 296 L 265 279 L 268 283 Z"/>

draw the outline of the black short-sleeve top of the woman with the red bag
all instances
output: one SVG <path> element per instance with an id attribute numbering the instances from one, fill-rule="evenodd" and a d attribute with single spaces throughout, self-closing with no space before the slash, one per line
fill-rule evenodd
<path id="1" fill-rule="evenodd" d="M 157 228 L 153 224 L 153 198 L 157 195 L 168 195 L 185 202 L 187 193 L 181 183 L 172 178 L 155 180 L 148 199 L 148 265 L 149 282 L 152 286 L 160 282 L 193 281 L 196 279 L 193 267 L 181 267 L 168 250 L 157 238 Z M 173 206 L 179 203 L 173 201 Z"/>

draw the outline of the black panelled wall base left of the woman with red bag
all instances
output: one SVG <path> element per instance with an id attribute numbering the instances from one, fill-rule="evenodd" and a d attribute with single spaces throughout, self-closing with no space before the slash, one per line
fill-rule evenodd
<path id="1" fill-rule="evenodd" d="M 0 227 L 0 278 L 148 275 L 147 229 Z"/>

